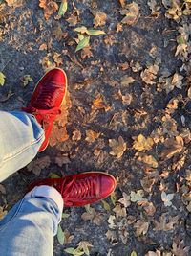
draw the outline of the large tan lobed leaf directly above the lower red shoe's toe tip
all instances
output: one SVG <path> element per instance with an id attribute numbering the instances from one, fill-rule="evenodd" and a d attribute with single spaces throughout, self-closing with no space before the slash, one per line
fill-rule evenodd
<path id="1" fill-rule="evenodd" d="M 117 158 L 120 158 L 127 149 L 127 144 L 121 136 L 118 137 L 118 140 L 109 139 L 109 146 L 112 148 L 110 154 L 117 156 Z"/>

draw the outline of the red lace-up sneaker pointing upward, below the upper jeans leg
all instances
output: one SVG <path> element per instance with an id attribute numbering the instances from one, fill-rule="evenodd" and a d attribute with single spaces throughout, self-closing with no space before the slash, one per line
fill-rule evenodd
<path id="1" fill-rule="evenodd" d="M 60 68 L 48 71 L 36 84 L 32 98 L 22 110 L 35 116 L 45 132 L 45 140 L 39 151 L 44 151 L 49 144 L 49 137 L 56 115 L 61 113 L 67 90 L 67 76 Z"/>

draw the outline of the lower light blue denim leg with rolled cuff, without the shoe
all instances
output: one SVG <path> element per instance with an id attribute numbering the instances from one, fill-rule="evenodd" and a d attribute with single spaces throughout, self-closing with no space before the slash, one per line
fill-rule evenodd
<path id="1" fill-rule="evenodd" d="M 53 236 L 62 211 L 57 190 L 35 187 L 0 221 L 0 255 L 53 256 Z"/>

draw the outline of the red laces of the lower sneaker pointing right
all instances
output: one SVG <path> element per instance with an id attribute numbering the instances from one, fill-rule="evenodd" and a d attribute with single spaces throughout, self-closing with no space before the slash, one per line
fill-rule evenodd
<path id="1" fill-rule="evenodd" d="M 87 177 L 84 179 L 76 180 L 76 177 L 73 177 L 72 180 L 65 186 L 65 181 L 61 184 L 61 195 L 66 202 L 78 201 L 79 199 L 91 199 L 98 197 L 97 189 L 97 178 L 96 177 Z"/>

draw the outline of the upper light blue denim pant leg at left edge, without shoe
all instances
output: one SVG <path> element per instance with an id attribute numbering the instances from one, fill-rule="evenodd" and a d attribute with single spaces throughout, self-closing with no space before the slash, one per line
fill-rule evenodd
<path id="1" fill-rule="evenodd" d="M 44 131 L 31 114 L 0 111 L 0 182 L 32 161 Z"/>

